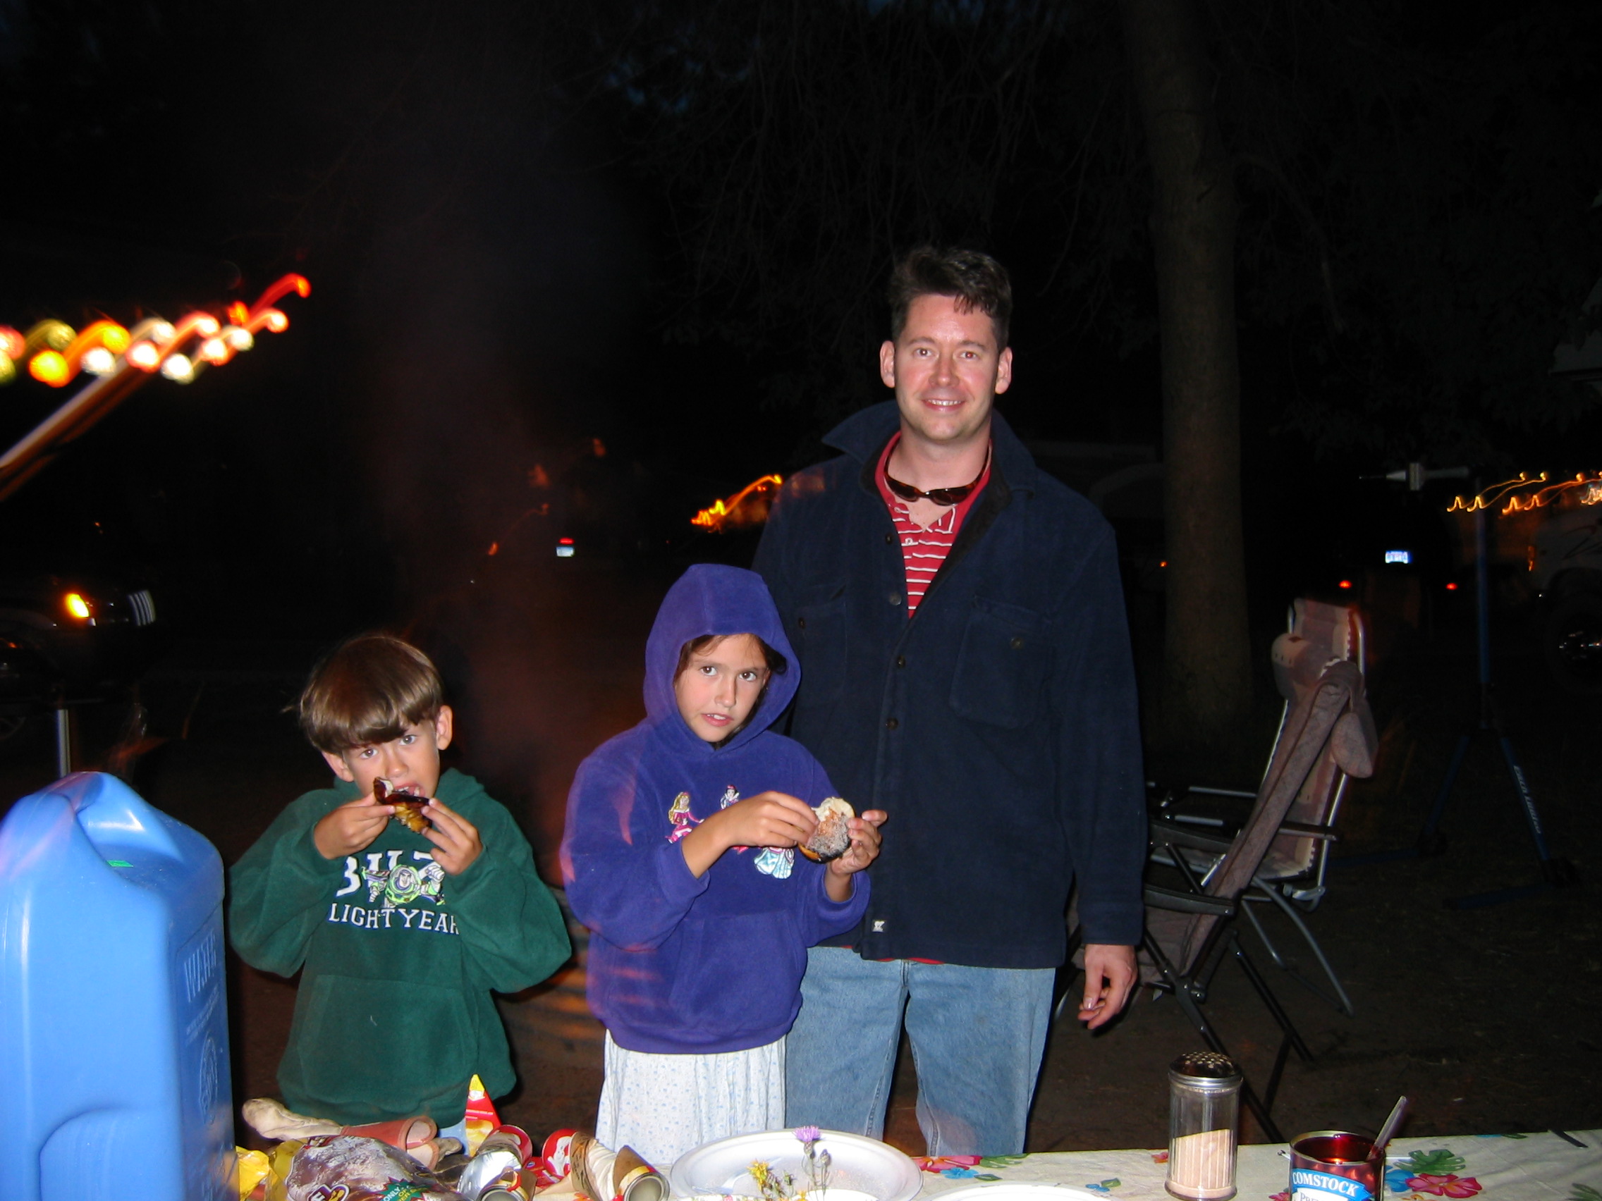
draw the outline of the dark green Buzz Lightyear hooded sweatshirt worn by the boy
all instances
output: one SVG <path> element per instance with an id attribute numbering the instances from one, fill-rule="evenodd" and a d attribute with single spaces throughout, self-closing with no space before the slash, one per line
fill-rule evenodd
<path id="1" fill-rule="evenodd" d="M 399 821 L 325 860 L 312 829 L 356 796 L 341 781 L 279 813 L 227 873 L 229 938 L 255 967 L 301 972 L 279 1063 L 292 1110 L 346 1126 L 418 1113 L 453 1126 L 473 1073 L 490 1097 L 514 1083 L 490 990 L 554 972 L 567 929 L 522 831 L 473 777 L 452 769 L 437 789 L 484 842 L 460 876 Z"/>

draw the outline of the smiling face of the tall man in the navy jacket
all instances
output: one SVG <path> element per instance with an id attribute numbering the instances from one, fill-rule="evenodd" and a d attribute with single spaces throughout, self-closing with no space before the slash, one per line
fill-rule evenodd
<path id="1" fill-rule="evenodd" d="M 1012 383 L 1012 351 L 998 351 L 988 314 L 960 312 L 955 296 L 918 296 L 900 338 L 879 347 L 879 378 L 896 389 L 902 437 L 960 447 L 988 434 L 990 405 Z"/>

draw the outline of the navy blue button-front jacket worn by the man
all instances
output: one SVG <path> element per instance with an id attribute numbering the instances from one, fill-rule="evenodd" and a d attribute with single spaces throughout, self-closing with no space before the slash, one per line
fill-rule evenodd
<path id="1" fill-rule="evenodd" d="M 868 959 L 1056 967 L 1078 878 L 1086 942 L 1141 938 L 1145 804 L 1112 528 L 993 416 L 990 484 L 908 621 L 873 469 L 894 402 L 780 492 L 756 570 L 801 657 L 790 735 L 860 813 L 889 813 Z"/>

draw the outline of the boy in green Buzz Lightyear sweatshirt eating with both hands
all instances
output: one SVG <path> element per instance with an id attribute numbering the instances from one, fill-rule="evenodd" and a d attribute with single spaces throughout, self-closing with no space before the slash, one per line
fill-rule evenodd
<path id="1" fill-rule="evenodd" d="M 300 721 L 338 777 L 308 793 L 229 871 L 245 962 L 301 972 L 279 1063 L 284 1100 L 344 1126 L 426 1113 L 461 1123 L 468 1079 L 513 1087 L 490 990 L 538 983 L 569 954 L 522 833 L 476 780 L 441 775 L 452 713 L 428 657 L 364 634 L 312 669 Z M 431 797 L 413 833 L 373 781 Z"/>

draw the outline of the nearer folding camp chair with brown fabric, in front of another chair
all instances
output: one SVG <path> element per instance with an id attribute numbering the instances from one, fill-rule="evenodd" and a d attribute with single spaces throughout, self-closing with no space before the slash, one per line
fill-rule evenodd
<path id="1" fill-rule="evenodd" d="M 1141 980 L 1171 991 L 1206 1044 L 1229 1054 L 1202 1010 L 1213 974 L 1224 956 L 1240 964 L 1253 990 L 1267 1006 L 1282 1039 L 1274 1070 L 1259 1097 L 1250 1081 L 1242 1095 L 1274 1142 L 1283 1142 L 1270 1111 L 1291 1050 L 1304 1060 L 1312 1054 L 1267 980 L 1240 945 L 1232 921 L 1245 894 L 1256 886 L 1266 857 L 1277 839 L 1322 837 L 1322 831 L 1288 825 L 1298 799 L 1331 769 L 1349 775 L 1373 770 L 1373 721 L 1363 698 L 1363 677 L 1347 660 L 1330 663 L 1315 684 L 1285 714 L 1262 786 L 1251 813 L 1234 837 L 1203 833 L 1195 825 L 1153 820 L 1153 858 L 1171 863 L 1184 887 L 1145 887 L 1145 934 L 1141 945 Z M 1200 855 L 1210 865 L 1205 878 L 1192 868 Z M 1078 932 L 1072 935 L 1078 946 Z"/>

